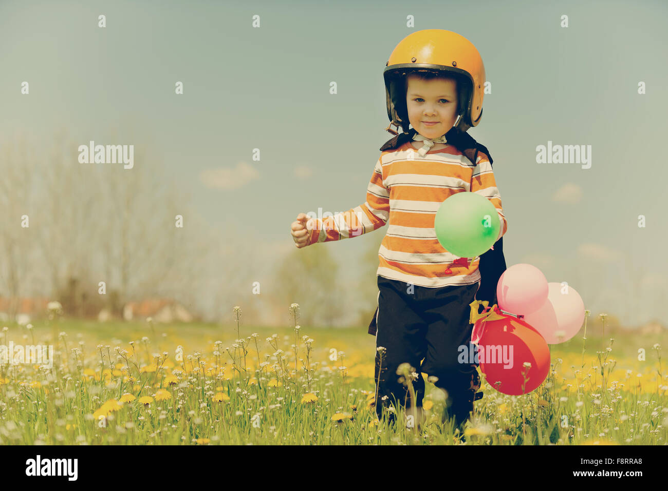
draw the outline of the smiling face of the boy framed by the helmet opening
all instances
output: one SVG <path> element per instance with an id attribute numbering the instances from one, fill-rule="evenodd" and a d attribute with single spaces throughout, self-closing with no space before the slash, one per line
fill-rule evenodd
<path id="1" fill-rule="evenodd" d="M 422 80 L 409 75 L 406 90 L 408 120 L 420 135 L 438 138 L 457 119 L 457 83 L 452 79 Z M 426 122 L 437 121 L 436 124 Z"/>

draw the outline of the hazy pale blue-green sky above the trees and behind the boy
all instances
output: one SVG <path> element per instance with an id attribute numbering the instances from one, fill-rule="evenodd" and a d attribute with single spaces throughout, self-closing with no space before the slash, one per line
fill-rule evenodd
<path id="1" fill-rule="evenodd" d="M 666 324 L 668 171 L 656 143 L 667 21 L 668 4 L 649 0 L 0 0 L 0 141 L 26 134 L 39 147 L 65 129 L 79 143 L 143 145 L 162 161 L 156 179 L 176 181 L 212 229 L 246 244 L 230 261 L 267 266 L 295 248 L 300 212 L 365 201 L 392 136 L 383 69 L 395 45 L 456 31 L 491 84 L 469 133 L 494 159 L 507 266 L 568 282 L 593 313 Z M 548 141 L 591 145 L 591 167 L 538 163 Z M 314 247 L 357 280 L 369 235 Z"/>

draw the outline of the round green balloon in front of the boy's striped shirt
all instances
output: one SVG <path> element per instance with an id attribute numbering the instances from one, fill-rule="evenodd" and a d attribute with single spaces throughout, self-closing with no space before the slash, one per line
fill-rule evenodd
<path id="1" fill-rule="evenodd" d="M 436 238 L 443 248 L 460 258 L 475 258 L 494 246 L 501 229 L 492 201 L 468 191 L 449 196 L 434 217 Z"/>

